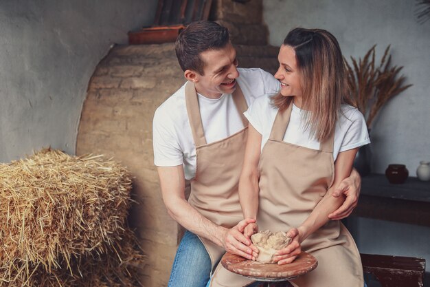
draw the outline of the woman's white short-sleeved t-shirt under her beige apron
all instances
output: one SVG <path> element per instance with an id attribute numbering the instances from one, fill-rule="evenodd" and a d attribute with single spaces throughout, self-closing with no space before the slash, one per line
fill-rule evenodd
<path id="1" fill-rule="evenodd" d="M 342 105 L 341 111 L 342 113 L 335 129 L 334 160 L 336 160 L 341 151 L 348 151 L 348 149 L 354 149 L 370 143 L 363 114 L 350 105 Z M 306 113 L 307 111 L 293 105 L 290 121 L 284 135 L 284 142 L 308 147 L 309 149 L 319 149 L 319 142 L 314 138 L 310 138 L 309 130 L 305 130 L 304 125 L 302 125 L 302 112 Z M 278 108 L 271 105 L 271 95 L 256 99 L 249 109 L 245 111 L 245 116 L 249 123 L 262 134 L 261 149 L 269 139 L 276 114 L 278 114 Z"/>

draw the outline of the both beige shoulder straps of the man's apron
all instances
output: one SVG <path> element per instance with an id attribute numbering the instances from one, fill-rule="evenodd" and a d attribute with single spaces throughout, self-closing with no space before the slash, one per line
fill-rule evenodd
<path id="1" fill-rule="evenodd" d="M 236 89 L 233 92 L 233 100 L 238 109 L 240 118 L 245 127 L 248 125 L 248 120 L 245 118 L 243 113 L 248 109 L 247 101 L 245 96 L 243 96 L 242 89 L 236 82 Z M 205 133 L 203 131 L 203 123 L 201 122 L 201 115 L 199 109 L 199 98 L 197 97 L 196 87 L 194 83 L 188 82 L 185 85 L 185 103 L 187 106 L 188 119 L 190 120 L 192 137 L 194 139 L 194 144 L 196 147 L 201 145 L 206 145 Z"/>

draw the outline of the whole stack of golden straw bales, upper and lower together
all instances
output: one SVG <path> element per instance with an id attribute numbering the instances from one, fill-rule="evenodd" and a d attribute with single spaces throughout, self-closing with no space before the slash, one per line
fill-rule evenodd
<path id="1" fill-rule="evenodd" d="M 0 164 L 0 286 L 139 286 L 126 169 L 44 149 Z"/>

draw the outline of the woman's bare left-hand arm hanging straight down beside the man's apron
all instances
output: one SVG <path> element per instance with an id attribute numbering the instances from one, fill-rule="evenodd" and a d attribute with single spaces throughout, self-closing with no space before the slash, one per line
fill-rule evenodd
<path id="1" fill-rule="evenodd" d="M 244 218 L 257 218 L 258 212 L 258 162 L 260 161 L 262 135 L 249 124 L 245 159 L 239 179 L 239 201 Z M 249 224 L 245 228 L 248 238 L 258 231 L 256 224 Z"/>

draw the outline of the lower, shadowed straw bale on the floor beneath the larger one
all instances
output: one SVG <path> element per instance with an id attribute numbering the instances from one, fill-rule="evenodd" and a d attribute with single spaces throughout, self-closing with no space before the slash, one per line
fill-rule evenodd
<path id="1" fill-rule="evenodd" d="M 0 268 L 0 287 L 131 287 L 142 286 L 138 281 L 139 270 L 144 266 L 144 255 L 136 237 L 129 228 L 124 230 L 120 242 L 113 243 L 107 253 L 87 253 L 72 256 L 69 262 L 73 275 L 67 270 L 67 262 L 60 260 L 60 268 L 46 272 L 41 266 L 26 266 L 16 260 L 16 268 Z"/>

